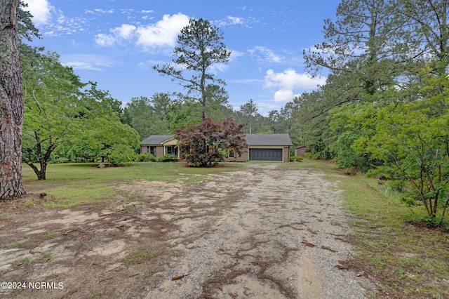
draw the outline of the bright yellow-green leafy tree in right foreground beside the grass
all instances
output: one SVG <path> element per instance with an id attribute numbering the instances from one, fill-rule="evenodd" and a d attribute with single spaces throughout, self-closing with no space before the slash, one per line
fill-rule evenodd
<path id="1" fill-rule="evenodd" d="M 353 148 L 382 161 L 389 176 L 422 201 L 431 221 L 441 224 L 449 204 L 449 114 L 447 108 L 437 117 L 431 111 L 429 100 L 379 109 L 368 121 L 375 135 L 359 138 Z"/>

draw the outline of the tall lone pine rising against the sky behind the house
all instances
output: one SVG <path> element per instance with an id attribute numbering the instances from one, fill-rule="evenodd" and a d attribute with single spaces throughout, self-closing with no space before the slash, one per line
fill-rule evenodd
<path id="1" fill-rule="evenodd" d="M 214 65 L 226 64 L 231 51 L 223 43 L 221 30 L 210 24 L 208 20 L 191 19 L 189 25 L 177 36 L 177 46 L 173 51 L 174 65 L 154 69 L 161 75 L 168 75 L 187 89 L 183 98 L 193 98 L 201 103 L 202 119 L 206 119 L 206 106 L 210 98 L 210 84 L 225 85 L 225 81 L 215 78 L 211 68 Z"/>

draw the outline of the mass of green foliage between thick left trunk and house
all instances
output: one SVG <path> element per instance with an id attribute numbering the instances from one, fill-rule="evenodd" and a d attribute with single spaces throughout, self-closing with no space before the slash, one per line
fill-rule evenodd
<path id="1" fill-rule="evenodd" d="M 39 180 L 46 179 L 51 161 L 134 161 L 132 152 L 139 146 L 139 137 L 121 122 L 120 101 L 95 83 L 82 83 L 55 53 L 22 63 L 23 159 Z"/>

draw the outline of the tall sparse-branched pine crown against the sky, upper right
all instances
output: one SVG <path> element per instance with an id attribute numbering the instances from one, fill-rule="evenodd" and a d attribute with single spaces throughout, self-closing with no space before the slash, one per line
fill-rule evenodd
<path id="1" fill-rule="evenodd" d="M 391 61 L 397 42 L 391 34 L 401 26 L 392 18 L 393 12 L 389 1 L 341 1 L 337 20 L 325 20 L 326 41 L 304 50 L 307 67 L 314 72 L 324 67 L 333 74 L 353 77 L 355 81 L 347 82 L 350 87 L 369 95 L 391 86 L 400 71 Z"/>

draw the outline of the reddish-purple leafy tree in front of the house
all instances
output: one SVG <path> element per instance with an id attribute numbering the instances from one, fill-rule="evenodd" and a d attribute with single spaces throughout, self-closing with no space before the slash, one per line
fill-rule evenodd
<path id="1" fill-rule="evenodd" d="M 241 156 L 248 145 L 242 128 L 245 124 L 236 124 L 228 118 L 222 124 L 212 119 L 196 126 L 187 126 L 175 130 L 179 141 L 180 156 L 189 166 L 213 167 L 225 159 L 227 150 L 234 150 Z"/>

